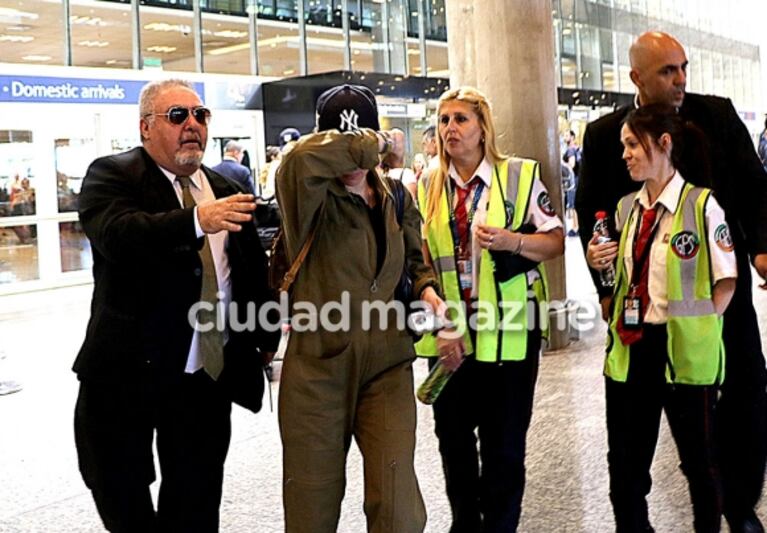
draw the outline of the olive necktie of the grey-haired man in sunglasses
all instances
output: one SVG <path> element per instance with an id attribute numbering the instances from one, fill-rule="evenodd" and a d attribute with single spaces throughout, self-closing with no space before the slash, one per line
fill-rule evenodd
<path id="1" fill-rule="evenodd" d="M 184 207 L 194 207 L 196 202 L 192 197 L 189 185 L 192 180 L 189 176 L 176 176 L 179 185 L 181 185 L 182 199 Z M 197 321 L 200 324 L 216 324 L 216 304 L 218 303 L 218 279 L 216 278 L 216 265 L 213 262 L 213 253 L 210 250 L 208 236 L 204 237 L 205 242 L 200 249 L 200 260 L 202 261 L 202 290 L 200 291 L 200 301 L 213 305 L 214 310 L 203 310 L 197 314 Z M 223 331 L 213 327 L 208 331 L 199 332 L 199 350 L 202 355 L 202 366 L 205 372 L 213 379 L 218 379 L 221 370 L 224 368 L 224 338 Z"/>

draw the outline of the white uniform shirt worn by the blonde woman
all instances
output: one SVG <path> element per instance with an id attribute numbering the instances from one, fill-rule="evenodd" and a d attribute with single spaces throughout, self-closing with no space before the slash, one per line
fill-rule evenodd
<path id="1" fill-rule="evenodd" d="M 474 218 L 472 219 L 470 230 L 472 266 L 471 296 L 472 298 L 476 298 L 477 290 L 479 287 L 479 260 L 482 253 L 482 247 L 479 245 L 479 240 L 475 238 L 475 234 L 477 231 L 477 226 L 483 225 L 487 221 L 487 208 L 490 201 L 490 188 L 497 184 L 497 179 L 495 178 L 493 165 L 487 159 L 482 160 L 477 169 L 474 171 L 472 179 L 469 180 L 468 183 L 464 183 L 463 180 L 459 177 L 458 172 L 455 170 L 452 162 L 450 163 L 450 168 L 448 168 L 448 177 L 450 180 L 452 180 L 455 187 L 460 187 L 462 189 L 469 187 L 469 183 L 471 183 L 471 181 L 476 177 L 479 177 L 479 179 L 482 180 L 482 183 L 485 184 L 482 190 L 482 194 L 479 197 L 479 202 L 477 203 L 477 210 L 474 214 Z M 453 194 L 454 210 L 457 202 L 458 195 Z M 467 214 L 471 212 L 471 206 L 473 203 L 474 193 L 472 192 L 466 195 Z M 533 189 L 530 194 L 530 203 L 527 208 L 527 216 L 525 220 L 522 221 L 522 223 L 529 223 L 534 225 L 536 228 L 536 233 L 546 233 L 547 231 L 563 227 L 562 221 L 551 207 L 551 201 L 549 198 L 549 193 L 546 190 L 546 186 L 539 179 L 533 181 Z M 527 279 L 530 283 L 532 283 L 532 281 L 538 276 L 538 273 L 534 270 L 531 270 L 527 274 Z"/>

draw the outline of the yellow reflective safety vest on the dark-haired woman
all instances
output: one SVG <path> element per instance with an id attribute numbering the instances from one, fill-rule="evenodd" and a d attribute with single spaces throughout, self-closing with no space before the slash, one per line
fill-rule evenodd
<path id="1" fill-rule="evenodd" d="M 671 225 L 666 273 L 668 293 L 668 358 L 666 380 L 687 385 L 711 385 L 724 379 L 722 319 L 711 298 L 710 254 L 705 223 L 706 202 L 711 191 L 685 183 L 679 207 Z M 636 223 L 632 193 L 618 204 L 621 229 Z M 618 257 L 624 256 L 627 231 L 621 234 Z M 676 250 L 676 251 L 675 251 Z M 622 302 L 628 291 L 623 261 L 618 272 L 608 336 L 605 374 L 625 382 L 630 350 L 618 337 L 616 324 L 621 319 Z"/>

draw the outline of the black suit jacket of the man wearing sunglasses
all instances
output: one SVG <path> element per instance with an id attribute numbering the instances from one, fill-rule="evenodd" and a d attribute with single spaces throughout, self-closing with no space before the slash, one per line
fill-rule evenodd
<path id="1" fill-rule="evenodd" d="M 216 197 L 241 192 L 203 167 Z M 130 379 L 147 368 L 182 373 L 192 327 L 187 313 L 200 298 L 202 264 L 193 210 L 182 209 L 173 185 L 143 148 L 102 157 L 88 168 L 79 214 L 93 250 L 91 318 L 74 364 L 81 379 Z M 270 299 L 266 254 L 255 226 L 231 232 L 227 255 L 232 301 L 245 321 L 246 303 Z M 230 331 L 233 356 L 274 350 L 276 334 Z M 222 374 L 222 378 L 223 378 Z M 261 376 L 253 376 L 254 386 Z"/>

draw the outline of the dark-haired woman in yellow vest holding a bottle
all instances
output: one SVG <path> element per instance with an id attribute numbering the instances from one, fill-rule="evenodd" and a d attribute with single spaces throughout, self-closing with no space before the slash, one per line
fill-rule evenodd
<path id="1" fill-rule="evenodd" d="M 721 317 L 737 268 L 724 212 L 709 189 L 677 170 L 690 128 L 665 105 L 626 117 L 623 159 L 643 185 L 618 204 L 620 242 L 597 244 L 595 235 L 587 251 L 597 270 L 619 258 L 605 362 L 618 532 L 652 531 L 646 496 L 663 410 L 689 483 L 695 531 L 720 529 L 713 418 L 724 379 Z"/>

